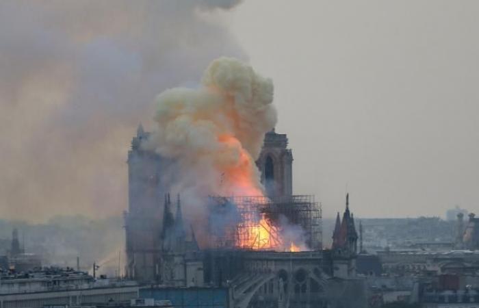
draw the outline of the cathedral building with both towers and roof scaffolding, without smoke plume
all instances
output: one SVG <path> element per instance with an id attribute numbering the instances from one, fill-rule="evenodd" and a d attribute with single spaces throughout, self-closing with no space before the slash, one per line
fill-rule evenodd
<path id="1" fill-rule="evenodd" d="M 185 227 L 181 196 L 172 202 L 175 162 L 142 146 L 149 136 L 140 126 L 131 142 L 125 212 L 127 277 L 153 285 L 146 297 L 182 307 L 185 296 L 195 296 L 183 291 L 185 287 L 207 294 L 226 287 L 228 307 L 365 307 L 364 281 L 355 272 L 358 235 L 349 196 L 335 246 L 323 251 L 321 207 L 314 196 L 293 194 L 293 157 L 285 134 L 266 133 L 257 160 L 267 196 L 209 197 L 207 247 L 200 247 L 194 229 Z M 305 247 L 300 249 L 291 240 L 284 251 L 272 249 L 281 232 L 275 225 L 283 223 Z M 249 230 L 255 228 L 268 234 L 250 241 Z M 211 300 L 207 303 L 214 303 Z M 200 300 L 196 303 L 200 305 Z"/>

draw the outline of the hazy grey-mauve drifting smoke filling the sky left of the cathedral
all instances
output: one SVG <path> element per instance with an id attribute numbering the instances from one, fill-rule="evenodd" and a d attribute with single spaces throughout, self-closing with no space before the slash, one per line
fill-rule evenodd
<path id="1" fill-rule="evenodd" d="M 244 58 L 216 17 L 237 3 L 1 1 L 0 215 L 125 209 L 129 142 L 155 95 Z"/>

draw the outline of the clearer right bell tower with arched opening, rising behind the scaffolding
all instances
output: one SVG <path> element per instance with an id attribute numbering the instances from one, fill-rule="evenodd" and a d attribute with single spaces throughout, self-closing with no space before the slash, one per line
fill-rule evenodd
<path id="1" fill-rule="evenodd" d="M 266 194 L 270 198 L 293 194 L 293 153 L 287 149 L 287 136 L 268 131 L 256 162 Z"/>

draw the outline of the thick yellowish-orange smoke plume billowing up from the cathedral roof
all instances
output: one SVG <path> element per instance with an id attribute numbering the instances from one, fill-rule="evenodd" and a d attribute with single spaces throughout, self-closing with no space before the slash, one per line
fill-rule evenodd
<path id="1" fill-rule="evenodd" d="M 255 160 L 276 124 L 273 85 L 239 60 L 209 64 L 201 86 L 157 97 L 157 131 L 147 147 L 179 162 L 178 191 L 195 196 L 263 194 Z"/>

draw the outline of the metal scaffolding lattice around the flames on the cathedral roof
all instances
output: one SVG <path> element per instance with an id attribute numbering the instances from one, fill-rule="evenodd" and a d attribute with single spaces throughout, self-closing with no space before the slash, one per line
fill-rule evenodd
<path id="1" fill-rule="evenodd" d="M 215 248 L 282 250 L 283 225 L 300 227 L 311 251 L 322 249 L 322 210 L 314 196 L 210 196 L 209 233 Z"/>

